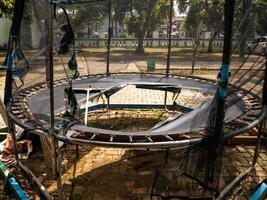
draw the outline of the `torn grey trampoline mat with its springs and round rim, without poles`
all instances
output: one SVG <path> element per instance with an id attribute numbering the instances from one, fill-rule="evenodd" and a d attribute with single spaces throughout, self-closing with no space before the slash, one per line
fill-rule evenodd
<path id="1" fill-rule="evenodd" d="M 67 80 L 60 79 L 54 83 L 55 93 L 57 94 L 54 97 L 56 121 L 68 121 L 68 119 L 60 119 L 60 113 L 64 113 L 66 109 L 64 88 L 68 85 Z M 212 80 L 193 77 L 165 77 L 159 74 L 123 73 L 111 74 L 110 76 L 82 76 L 73 82 L 74 91 L 79 93 L 85 91 L 85 94 L 77 95 L 77 101 L 81 108 L 86 106 L 87 90 L 95 91 L 88 97 L 88 100 L 93 100 L 102 95 L 110 96 L 127 85 L 163 91 L 172 91 L 178 88 L 179 92 L 186 89 L 210 95 L 215 95 L 216 92 L 216 85 Z M 235 89 L 235 92 L 229 96 L 227 104 L 228 107 L 225 110 L 224 119 L 226 124 L 231 124 L 233 121 L 249 124 L 252 122 L 253 117 L 257 117 L 261 111 L 260 98 L 243 88 Z M 123 105 L 120 106 L 123 107 Z M 179 118 L 167 119 L 167 122 L 146 132 L 103 130 L 84 126 L 81 122 L 69 122 L 66 125 L 66 130 L 63 131 L 64 134 L 58 135 L 58 137 L 60 140 L 74 144 L 148 149 L 188 147 L 188 145 L 201 142 L 204 138 L 192 136 L 192 139 L 182 140 L 180 136 L 187 134 L 190 137 L 191 132 L 203 131 L 208 120 L 208 115 L 205 115 L 205 113 L 209 112 L 210 106 L 211 100 Z M 8 109 L 10 110 L 10 117 L 23 128 L 47 132 L 50 114 L 47 84 L 39 83 L 21 90 L 13 97 Z M 72 133 L 75 137 L 71 137 L 68 134 L 68 129 L 76 132 L 75 134 Z"/>

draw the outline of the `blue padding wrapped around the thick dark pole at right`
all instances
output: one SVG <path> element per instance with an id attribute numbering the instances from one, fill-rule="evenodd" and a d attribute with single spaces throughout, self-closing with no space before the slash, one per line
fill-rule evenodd
<path id="1" fill-rule="evenodd" d="M 219 96 L 225 99 L 229 80 L 229 65 L 223 64 L 220 69 Z"/>

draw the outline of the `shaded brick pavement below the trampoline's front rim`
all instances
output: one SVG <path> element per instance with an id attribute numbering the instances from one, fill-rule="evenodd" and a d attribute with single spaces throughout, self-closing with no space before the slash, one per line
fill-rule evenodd
<path id="1" fill-rule="evenodd" d="M 225 187 L 236 175 L 244 171 L 253 158 L 253 146 L 227 146 L 224 148 L 220 188 Z M 171 153 L 175 154 L 175 152 Z M 197 193 L 179 185 L 177 174 L 181 173 L 177 160 L 165 163 L 165 152 L 132 151 L 80 147 L 80 158 L 76 165 L 75 148 L 68 146 L 63 153 L 62 181 L 66 199 L 150 199 L 156 170 L 158 178 L 154 194 L 177 195 Z M 34 162 L 32 162 L 34 161 Z M 35 155 L 27 165 L 42 180 L 49 192 L 56 194 L 56 184 L 51 180 L 42 157 Z M 267 176 L 266 148 L 261 150 L 256 170 L 248 176 L 226 199 L 248 199 L 257 184 Z M 49 178 L 50 177 L 50 178 Z M 176 180 L 177 179 L 177 180 Z M 154 196 L 153 199 L 160 199 Z"/>

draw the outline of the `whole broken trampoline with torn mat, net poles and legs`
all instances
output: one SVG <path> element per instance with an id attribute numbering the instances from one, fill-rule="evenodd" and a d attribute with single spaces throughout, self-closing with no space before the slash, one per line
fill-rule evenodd
<path id="1" fill-rule="evenodd" d="M 106 71 L 101 74 L 90 74 L 87 69 L 87 75 L 80 75 L 80 66 L 77 62 L 79 51 L 76 49 L 75 35 L 67 9 L 68 6 L 71 7 L 76 4 L 101 2 L 106 3 L 109 16 L 107 52 L 105 54 Z M 51 142 L 51 156 L 58 186 L 58 199 L 63 198 L 59 160 L 60 143 L 74 144 L 77 147 L 78 145 L 93 145 L 146 150 L 176 150 L 181 154 L 187 152 L 188 154 L 184 154 L 188 158 L 183 174 L 190 180 L 196 181 L 207 191 L 216 193 L 214 196 L 218 199 L 224 197 L 238 181 L 251 172 L 255 165 L 260 142 L 255 150 L 255 160 L 252 166 L 229 184 L 221 192 L 221 195 L 218 194 L 221 152 L 224 142 L 226 139 L 257 126 L 259 126 L 258 139 L 260 141 L 262 121 L 267 112 L 265 58 L 260 59 L 259 56 L 255 63 L 258 60 L 261 62 L 253 63 L 244 74 L 238 76 L 240 69 L 248 59 L 247 57 L 229 81 L 234 4 L 235 1 L 225 1 L 222 66 L 218 73 L 218 80 L 214 81 L 194 76 L 170 74 L 171 25 L 168 27 L 168 54 L 165 74 L 113 73 L 110 68 L 112 37 L 112 2 L 110 0 L 59 0 L 52 1 L 52 3 L 46 0 L 16 1 L 10 48 L 7 55 L 5 87 L 5 105 L 10 122 L 9 129 L 15 144 L 15 124 L 23 128 L 25 132 L 37 134 Z M 47 9 L 43 9 L 44 7 Z M 169 7 L 169 24 L 172 24 L 172 0 L 170 0 Z M 27 9 L 32 15 L 31 20 L 25 14 Z M 74 11 L 77 11 L 75 9 Z M 63 18 L 64 25 L 62 26 L 60 20 Z M 36 30 L 29 28 L 27 25 L 29 22 L 35 25 Z M 24 27 L 21 26 L 22 24 Z M 24 29 L 20 30 L 21 27 Z M 32 33 L 34 36 L 31 36 L 33 39 L 35 37 L 39 39 L 39 43 L 35 46 L 32 41 L 30 41 L 30 47 L 23 44 L 24 40 L 28 40 L 28 29 L 37 32 Z M 68 61 L 66 62 L 66 60 Z M 54 80 L 54 67 L 57 65 L 62 66 L 65 76 Z M 46 81 L 25 87 L 24 80 L 27 79 L 27 73 L 31 67 L 44 69 Z M 71 73 L 68 73 L 68 70 Z M 164 109 L 168 107 L 179 108 L 183 112 L 181 115 L 170 116 L 160 121 L 146 131 L 108 130 L 87 126 L 88 112 L 103 108 L 112 109 L 114 105 L 110 102 L 110 98 L 128 86 L 164 92 L 165 101 L 159 105 L 146 105 L 143 102 L 137 102 L 137 105 L 122 102 L 116 105 L 117 109 L 160 106 Z M 255 90 L 255 88 L 260 89 Z M 210 98 L 198 102 L 197 107 L 188 108 L 176 102 L 176 99 L 183 95 L 184 91 L 198 92 L 200 95 Z M 167 104 L 167 94 L 173 94 L 175 97 L 172 105 Z M 261 94 L 263 95 L 262 98 Z M 106 100 L 105 104 L 100 101 L 101 99 Z M 93 106 L 89 102 L 94 102 Z M 84 120 L 81 115 L 84 116 Z M 27 171 L 27 174 L 39 187 L 41 196 L 45 199 L 51 199 L 33 173 L 20 162 L 16 145 L 15 155 L 18 165 Z"/>

